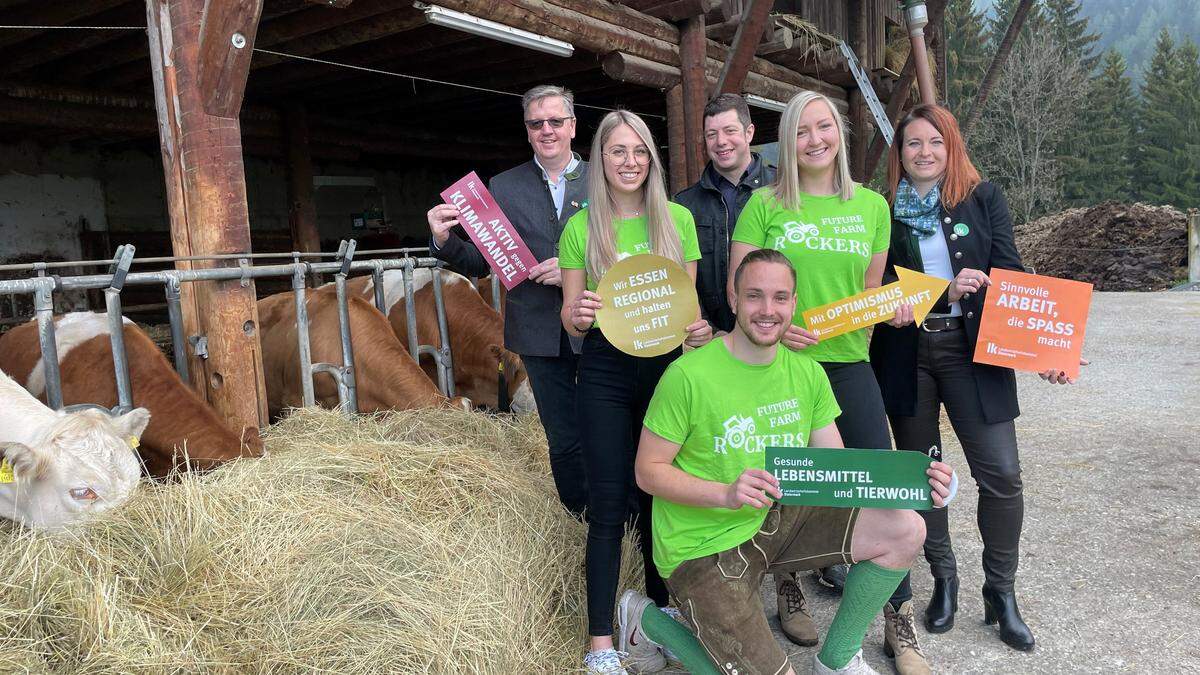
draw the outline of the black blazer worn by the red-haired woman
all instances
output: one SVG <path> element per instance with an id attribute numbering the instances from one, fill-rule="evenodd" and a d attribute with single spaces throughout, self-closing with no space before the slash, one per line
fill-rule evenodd
<path id="1" fill-rule="evenodd" d="M 1008 213 L 1008 202 L 1000 189 L 991 183 L 980 183 L 954 209 L 947 211 L 942 207 L 942 237 L 950 252 L 950 265 L 954 274 L 962 268 L 979 269 L 985 274 L 992 268 L 1024 271 L 1021 255 L 1013 243 L 1013 219 Z M 954 233 L 954 226 L 965 223 L 968 232 L 965 237 Z M 884 283 L 895 281 L 895 265 L 922 270 L 912 259 L 911 249 L 905 240 L 908 227 L 892 221 L 892 246 L 888 249 L 888 265 L 883 273 Z M 986 288 L 979 293 L 968 293 L 959 300 L 962 309 L 962 323 L 966 330 L 967 350 L 974 350 L 979 335 L 979 315 Z M 938 303 L 944 304 L 943 293 Z M 883 393 L 883 404 L 888 414 L 911 417 L 916 413 L 917 401 L 917 325 L 893 328 L 886 323 L 876 324 L 871 338 L 871 366 Z M 1016 377 L 1013 370 L 994 365 L 973 363 L 976 389 L 983 407 L 984 420 L 989 424 L 1014 419 L 1021 413 L 1016 405 Z"/>

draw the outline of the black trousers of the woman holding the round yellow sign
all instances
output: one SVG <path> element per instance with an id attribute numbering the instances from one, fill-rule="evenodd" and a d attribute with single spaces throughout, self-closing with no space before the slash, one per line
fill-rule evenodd
<path id="1" fill-rule="evenodd" d="M 588 634 L 612 634 L 625 526 L 637 528 L 646 565 L 646 595 L 659 607 L 667 587 L 650 555 L 650 497 L 634 480 L 634 459 L 654 387 L 680 350 L 631 357 L 593 328 L 580 356 L 578 426 L 588 471 Z"/>

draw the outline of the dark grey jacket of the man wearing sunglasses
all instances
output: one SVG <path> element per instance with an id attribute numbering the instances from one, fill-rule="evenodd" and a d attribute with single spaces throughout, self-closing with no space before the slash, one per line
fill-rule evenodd
<path id="1" fill-rule="evenodd" d="M 587 201 L 587 175 L 588 163 L 582 161 L 568 174 L 562 215 L 554 213 L 550 187 L 533 160 L 492 178 L 487 189 L 534 257 L 545 261 L 558 255 L 563 226 Z M 450 237 L 442 249 L 434 247 L 432 241 L 430 244 L 436 257 L 463 274 L 491 274 L 487 261 L 469 239 Z M 558 312 L 562 306 L 563 289 L 558 286 L 523 281 L 514 287 L 504 306 L 505 348 L 530 357 L 560 356 L 563 323 Z M 578 352 L 578 341 L 572 339 L 571 345 Z"/>

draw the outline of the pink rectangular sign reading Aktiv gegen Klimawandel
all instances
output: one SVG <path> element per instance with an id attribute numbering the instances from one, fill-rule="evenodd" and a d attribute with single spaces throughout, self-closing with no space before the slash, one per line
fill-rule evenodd
<path id="1" fill-rule="evenodd" d="M 458 222 L 505 288 L 511 291 L 529 276 L 529 268 L 538 264 L 538 258 L 533 257 L 529 246 L 521 240 L 475 172 L 443 190 L 442 198 L 458 208 Z"/>

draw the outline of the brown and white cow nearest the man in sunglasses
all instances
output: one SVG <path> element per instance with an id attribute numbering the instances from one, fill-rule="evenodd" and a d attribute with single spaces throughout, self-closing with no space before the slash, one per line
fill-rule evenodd
<path id="1" fill-rule="evenodd" d="M 416 299 L 416 335 L 424 345 L 442 346 L 438 333 L 437 304 L 433 301 L 433 275 L 428 269 L 413 270 L 413 295 Z M 398 269 L 383 274 L 384 306 L 388 322 L 402 345 L 408 345 L 408 317 L 404 298 L 404 276 Z M 533 390 L 521 357 L 505 350 L 504 319 L 492 309 L 488 295 L 480 295 L 470 280 L 449 270 L 442 271 L 442 297 L 445 301 L 446 331 L 454 359 L 455 392 L 476 405 L 499 406 L 499 369 L 504 368 L 508 398 L 512 411 L 535 412 Z M 348 291 L 370 301 L 374 298 L 374 281 L 360 276 L 349 281 Z M 421 368 L 437 382 L 437 365 L 430 357 L 421 358 Z"/>

